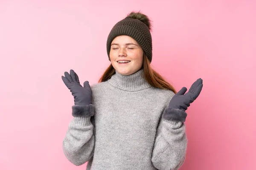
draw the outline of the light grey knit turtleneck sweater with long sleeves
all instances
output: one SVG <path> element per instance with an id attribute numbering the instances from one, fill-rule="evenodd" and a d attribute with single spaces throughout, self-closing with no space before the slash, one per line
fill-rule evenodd
<path id="1" fill-rule="evenodd" d="M 187 147 L 185 124 L 162 118 L 174 92 L 154 88 L 143 70 L 91 86 L 94 113 L 74 117 L 63 151 L 87 170 L 177 170 Z M 74 107 L 72 107 L 73 112 Z"/>

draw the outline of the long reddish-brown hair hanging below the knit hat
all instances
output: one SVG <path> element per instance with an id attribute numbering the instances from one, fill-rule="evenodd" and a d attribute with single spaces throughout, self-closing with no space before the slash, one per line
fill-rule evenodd
<path id="1" fill-rule="evenodd" d="M 145 53 L 143 53 L 143 71 L 144 71 L 144 77 L 148 84 L 155 88 L 161 88 L 161 89 L 168 89 L 173 91 L 175 94 L 177 91 L 175 88 L 169 84 L 157 71 L 154 71 L 153 68 L 151 68 L 150 62 L 148 61 L 148 58 L 146 57 Z M 113 74 L 115 74 L 115 69 L 113 68 L 113 65 L 110 64 L 108 68 L 105 70 L 105 72 L 102 74 L 102 77 L 99 79 L 99 82 L 105 82 L 108 79 L 110 79 Z"/>

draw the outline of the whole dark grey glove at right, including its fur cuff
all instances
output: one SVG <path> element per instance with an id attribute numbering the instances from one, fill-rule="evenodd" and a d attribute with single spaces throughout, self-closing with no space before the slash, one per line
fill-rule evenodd
<path id="1" fill-rule="evenodd" d="M 195 99 L 199 96 L 203 88 L 203 80 L 201 78 L 197 79 L 189 91 L 186 93 L 187 88 L 183 87 L 180 91 L 175 94 L 170 103 L 168 110 L 163 113 L 163 118 L 167 120 L 180 120 L 185 122 L 186 115 L 185 113 L 187 108 L 190 106 L 190 103 L 194 102 Z M 186 93 L 186 94 L 185 94 Z M 186 114 L 186 113 L 185 113 Z M 185 116 L 185 117 L 184 117 Z"/>

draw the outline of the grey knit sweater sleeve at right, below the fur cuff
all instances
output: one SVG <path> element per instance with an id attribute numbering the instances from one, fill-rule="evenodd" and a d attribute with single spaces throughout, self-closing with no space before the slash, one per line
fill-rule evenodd
<path id="1" fill-rule="evenodd" d="M 178 170 L 181 167 L 187 148 L 185 130 L 183 122 L 161 116 L 151 158 L 154 167 L 159 170 Z"/>

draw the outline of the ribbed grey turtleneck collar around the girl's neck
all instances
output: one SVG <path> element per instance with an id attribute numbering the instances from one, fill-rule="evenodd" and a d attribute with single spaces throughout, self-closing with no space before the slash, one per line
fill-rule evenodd
<path id="1" fill-rule="evenodd" d="M 116 88 L 124 91 L 140 91 L 151 87 L 144 78 L 143 69 L 140 69 L 134 74 L 130 74 L 128 76 L 119 74 L 117 71 L 115 72 L 116 74 L 113 74 L 113 76 L 108 79 L 108 83 Z"/>

